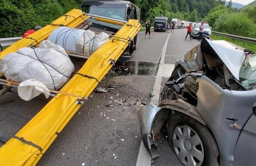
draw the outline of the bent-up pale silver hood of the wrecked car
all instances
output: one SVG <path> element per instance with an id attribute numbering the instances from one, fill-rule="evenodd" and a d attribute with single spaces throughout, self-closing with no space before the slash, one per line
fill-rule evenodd
<path id="1" fill-rule="evenodd" d="M 245 59 L 245 53 L 224 40 L 211 41 L 205 39 L 205 41 L 209 43 L 229 71 L 239 81 L 239 72 Z"/>

